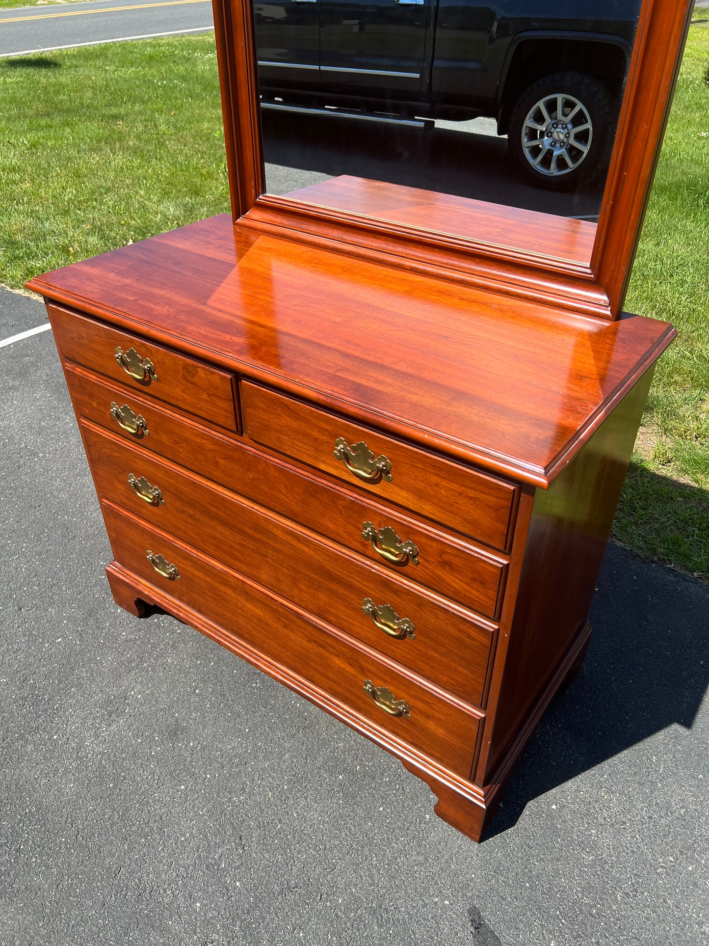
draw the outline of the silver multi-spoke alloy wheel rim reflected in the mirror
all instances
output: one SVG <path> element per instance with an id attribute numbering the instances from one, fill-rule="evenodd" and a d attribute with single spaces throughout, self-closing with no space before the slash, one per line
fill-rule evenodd
<path id="1" fill-rule="evenodd" d="M 554 93 L 529 109 L 522 125 L 522 150 L 530 166 L 545 177 L 575 170 L 591 148 L 593 123 L 575 96 Z"/>

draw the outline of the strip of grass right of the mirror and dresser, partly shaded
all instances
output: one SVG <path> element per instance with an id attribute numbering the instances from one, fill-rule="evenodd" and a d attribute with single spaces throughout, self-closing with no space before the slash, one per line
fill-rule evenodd
<path id="1" fill-rule="evenodd" d="M 709 9 L 684 54 L 626 300 L 679 338 L 660 359 L 614 537 L 709 577 Z"/>

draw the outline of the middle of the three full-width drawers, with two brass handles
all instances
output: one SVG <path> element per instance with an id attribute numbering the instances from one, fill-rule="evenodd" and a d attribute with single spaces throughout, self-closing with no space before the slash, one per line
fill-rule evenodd
<path id="1" fill-rule="evenodd" d="M 86 422 L 82 429 L 101 497 L 461 699 L 481 704 L 491 630 L 246 500 L 127 447 Z M 156 487 L 160 496 L 153 498 Z"/>

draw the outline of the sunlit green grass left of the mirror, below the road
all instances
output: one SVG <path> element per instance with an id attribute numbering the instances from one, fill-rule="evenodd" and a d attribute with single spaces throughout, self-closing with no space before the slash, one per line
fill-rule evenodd
<path id="1" fill-rule="evenodd" d="M 213 34 L 0 60 L 0 282 L 229 210 Z"/>

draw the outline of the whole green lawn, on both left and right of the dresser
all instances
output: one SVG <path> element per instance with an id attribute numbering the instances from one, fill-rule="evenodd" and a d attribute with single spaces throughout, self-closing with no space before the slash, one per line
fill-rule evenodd
<path id="1" fill-rule="evenodd" d="M 626 303 L 680 338 L 655 374 L 614 538 L 707 579 L 709 9 L 694 20 Z M 212 34 L 2 60 L 0 100 L 9 287 L 229 209 Z"/>

